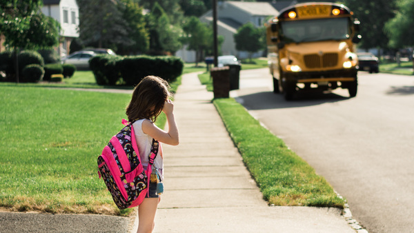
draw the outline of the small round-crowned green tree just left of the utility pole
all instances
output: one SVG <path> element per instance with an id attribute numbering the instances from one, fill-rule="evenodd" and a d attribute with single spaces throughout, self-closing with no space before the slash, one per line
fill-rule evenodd
<path id="1" fill-rule="evenodd" d="M 213 32 L 206 23 L 201 23 L 197 17 L 188 17 L 183 23 L 184 43 L 188 44 L 188 49 L 195 50 L 195 65 L 203 59 L 203 52 L 208 48 L 213 37 Z"/>

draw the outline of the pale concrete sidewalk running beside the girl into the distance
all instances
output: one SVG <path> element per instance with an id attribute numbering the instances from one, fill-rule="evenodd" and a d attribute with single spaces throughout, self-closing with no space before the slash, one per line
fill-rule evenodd
<path id="1" fill-rule="evenodd" d="M 336 208 L 269 207 L 212 99 L 197 74 L 183 76 L 175 94 L 180 145 L 163 145 L 155 232 L 355 232 Z"/>

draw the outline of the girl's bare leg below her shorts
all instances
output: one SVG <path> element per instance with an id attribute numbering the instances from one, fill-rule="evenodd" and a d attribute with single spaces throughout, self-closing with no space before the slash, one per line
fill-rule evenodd
<path id="1" fill-rule="evenodd" d="M 157 206 L 159 199 L 146 198 L 138 206 L 138 230 L 137 233 L 152 232 L 154 229 L 155 212 L 157 212 Z"/>

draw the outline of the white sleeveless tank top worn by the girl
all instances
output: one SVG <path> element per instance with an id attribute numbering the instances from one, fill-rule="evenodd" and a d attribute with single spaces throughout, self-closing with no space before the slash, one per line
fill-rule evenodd
<path id="1" fill-rule="evenodd" d="M 135 140 L 137 141 L 137 147 L 139 151 L 139 157 L 141 158 L 141 163 L 144 166 L 144 169 L 148 167 L 149 159 L 148 156 L 152 148 L 152 137 L 142 131 L 142 123 L 146 119 L 140 119 L 135 121 L 132 126 L 134 128 Z M 150 121 L 150 120 L 148 120 Z M 159 174 L 164 178 L 164 161 L 162 157 L 162 148 L 159 147 L 157 157 L 154 160 L 155 168 L 157 168 Z"/>

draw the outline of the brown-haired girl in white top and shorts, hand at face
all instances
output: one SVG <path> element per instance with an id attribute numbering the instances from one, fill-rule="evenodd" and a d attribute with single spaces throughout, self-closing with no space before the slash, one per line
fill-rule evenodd
<path id="1" fill-rule="evenodd" d="M 151 151 L 152 138 L 160 143 L 169 145 L 178 145 L 179 135 L 177 124 L 175 123 L 174 113 L 172 112 L 174 105 L 168 97 L 168 83 L 159 77 L 147 76 L 142 79 L 132 93 L 132 99 L 126 108 L 128 120 L 133 123 L 135 138 L 141 157 L 141 163 L 144 170 L 148 166 L 148 155 Z M 166 114 L 168 122 L 168 132 L 161 130 L 154 124 L 161 111 Z M 163 176 L 162 151 L 159 150 L 155 158 L 154 166 Z M 138 207 L 138 231 L 152 232 L 154 229 L 155 212 L 157 205 L 161 200 L 155 192 L 156 184 L 150 184 L 149 197 Z"/>

